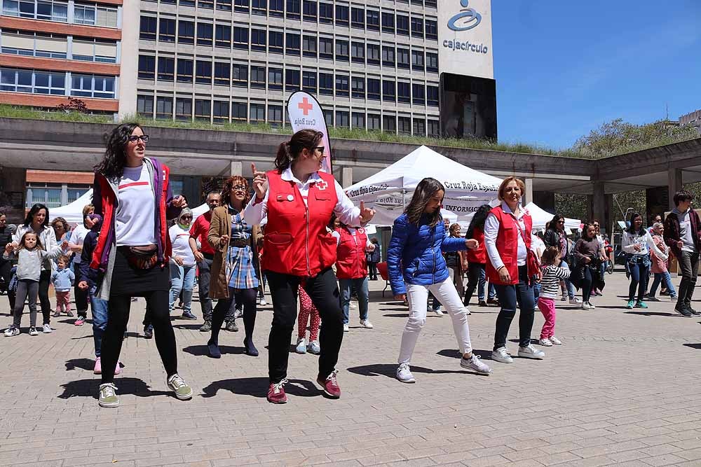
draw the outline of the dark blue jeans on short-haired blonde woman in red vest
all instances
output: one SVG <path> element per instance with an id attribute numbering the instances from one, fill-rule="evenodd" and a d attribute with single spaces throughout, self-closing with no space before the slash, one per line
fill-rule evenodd
<path id="1" fill-rule="evenodd" d="M 509 334 L 511 321 L 516 316 L 516 298 L 521 309 L 519 315 L 519 347 L 531 344 L 531 330 L 533 329 L 533 286 L 528 284 L 528 271 L 526 266 L 519 267 L 519 283 L 513 286 L 496 284 L 496 295 L 499 298 L 501 310 L 496 318 L 496 332 L 494 333 L 494 350 L 506 347 L 506 338 Z"/>

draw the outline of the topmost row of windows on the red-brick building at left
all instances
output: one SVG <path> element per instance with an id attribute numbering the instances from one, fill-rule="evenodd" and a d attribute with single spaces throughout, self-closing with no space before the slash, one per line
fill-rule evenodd
<path id="1" fill-rule="evenodd" d="M 117 27 L 117 8 L 64 0 L 1 0 L 2 14 L 74 25 Z"/>

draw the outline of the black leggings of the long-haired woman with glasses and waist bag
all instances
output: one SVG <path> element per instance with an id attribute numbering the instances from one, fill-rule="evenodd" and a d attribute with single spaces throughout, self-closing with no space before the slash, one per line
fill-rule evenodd
<path id="1" fill-rule="evenodd" d="M 146 298 L 147 306 L 151 309 L 151 322 L 156 335 L 156 347 L 161 354 L 163 368 L 168 377 L 177 373 L 177 351 L 175 348 L 175 333 L 170 323 L 168 312 L 169 291 L 152 291 L 139 293 Z M 122 349 L 124 332 L 129 322 L 131 295 L 110 295 L 107 311 L 107 328 L 102 335 L 102 383 L 114 382 L 114 368 L 119 360 Z"/>

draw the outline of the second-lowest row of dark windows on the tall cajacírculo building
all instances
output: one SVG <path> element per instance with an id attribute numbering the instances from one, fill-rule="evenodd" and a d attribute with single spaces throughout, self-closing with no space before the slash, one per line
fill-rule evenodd
<path id="1" fill-rule="evenodd" d="M 313 94 L 355 99 L 383 100 L 438 106 L 438 86 L 397 81 L 395 78 L 365 78 L 323 71 L 301 71 L 211 60 L 139 55 L 139 78 L 161 82 L 198 83 L 240 88 L 287 90 L 302 89 Z"/>

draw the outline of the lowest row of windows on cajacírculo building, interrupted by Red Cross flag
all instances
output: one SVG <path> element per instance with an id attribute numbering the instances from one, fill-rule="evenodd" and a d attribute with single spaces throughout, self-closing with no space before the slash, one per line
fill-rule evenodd
<path id="1" fill-rule="evenodd" d="M 362 128 L 383 132 L 438 136 L 438 120 L 426 120 L 425 116 L 397 116 L 381 111 L 332 110 L 324 111 L 326 124 L 335 127 Z M 137 95 L 137 112 L 147 118 L 162 120 L 203 120 L 213 123 L 268 123 L 272 126 L 290 125 L 282 103 L 266 104 L 231 102 L 190 97 L 165 97 Z M 427 125 L 428 123 L 428 125 Z M 428 130 L 428 133 L 427 133 Z"/>

